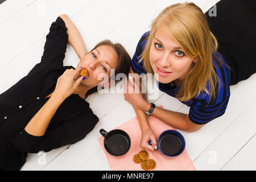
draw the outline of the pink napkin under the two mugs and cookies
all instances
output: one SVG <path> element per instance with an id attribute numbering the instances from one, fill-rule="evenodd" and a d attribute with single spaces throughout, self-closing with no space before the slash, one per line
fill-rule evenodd
<path id="1" fill-rule="evenodd" d="M 165 130 L 176 130 L 173 127 L 167 125 L 166 123 L 160 121 L 158 118 L 154 116 L 148 117 L 148 123 L 150 128 L 155 134 L 156 139 L 159 135 Z M 98 142 L 100 142 L 102 150 L 105 152 L 106 158 L 108 159 L 109 166 L 112 170 L 129 170 L 129 171 L 143 171 L 141 168 L 141 164 L 135 164 L 133 162 L 133 156 L 138 154 L 139 151 L 142 150 L 139 147 L 139 143 L 141 142 L 141 129 L 139 127 L 137 117 L 130 119 L 123 125 L 116 127 L 115 129 L 121 129 L 125 131 L 131 139 L 131 147 L 130 150 L 123 156 L 112 156 L 110 155 L 104 148 L 104 137 L 99 137 Z M 187 150 L 177 156 L 176 158 L 168 158 L 164 156 L 159 150 L 147 151 L 149 154 L 149 159 L 154 159 L 156 162 L 156 167 L 153 170 L 156 171 L 187 171 L 187 170 L 196 170 L 195 166 L 193 165 L 191 159 L 188 156 Z"/>

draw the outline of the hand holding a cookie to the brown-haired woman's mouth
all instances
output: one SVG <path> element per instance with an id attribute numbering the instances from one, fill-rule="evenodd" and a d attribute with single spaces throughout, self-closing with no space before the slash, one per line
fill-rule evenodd
<path id="1" fill-rule="evenodd" d="M 82 68 L 66 69 L 63 75 L 58 78 L 52 95 L 61 97 L 63 100 L 70 96 L 75 91 L 77 86 L 79 86 L 79 84 L 82 82 L 83 77 L 80 77 L 74 81 L 75 76 L 80 72 L 81 69 Z"/>

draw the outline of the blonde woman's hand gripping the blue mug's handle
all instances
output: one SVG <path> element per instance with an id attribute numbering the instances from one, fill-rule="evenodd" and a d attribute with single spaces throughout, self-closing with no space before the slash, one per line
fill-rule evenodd
<path id="1" fill-rule="evenodd" d="M 151 140 L 152 145 L 148 144 L 148 141 Z M 151 129 L 147 129 L 142 132 L 141 135 L 141 148 L 144 150 L 154 151 L 157 149 L 157 142 L 155 139 L 155 135 Z"/>

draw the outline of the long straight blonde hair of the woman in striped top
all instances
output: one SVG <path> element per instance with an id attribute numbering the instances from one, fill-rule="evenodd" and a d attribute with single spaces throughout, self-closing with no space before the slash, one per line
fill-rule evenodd
<path id="1" fill-rule="evenodd" d="M 199 59 L 181 83 L 175 97 L 180 101 L 189 101 L 206 92 L 210 95 L 210 99 L 216 98 L 215 87 L 217 81 L 220 84 L 220 80 L 214 70 L 216 66 L 212 64 L 212 58 L 217 61 L 218 67 L 224 63 L 220 56 L 218 59 L 212 57 L 212 53 L 217 51 L 218 43 L 209 30 L 203 11 L 194 3 L 177 3 L 166 7 L 153 20 L 150 35 L 139 60 L 144 60 L 143 66 L 147 73 L 154 73 L 150 65 L 150 47 L 156 31 L 173 38 L 188 57 Z M 209 81 L 209 90 L 207 81 Z"/>

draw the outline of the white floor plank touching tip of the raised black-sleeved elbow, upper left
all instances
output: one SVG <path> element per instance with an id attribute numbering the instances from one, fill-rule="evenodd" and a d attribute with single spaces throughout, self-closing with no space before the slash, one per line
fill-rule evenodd
<path id="1" fill-rule="evenodd" d="M 84 9 L 94 0 L 79 0 L 77 3 L 71 1 L 43 1 L 38 0 L 32 3 L 23 11 L 7 22 L 0 25 L 1 42 L 1 63 L 0 68 L 13 60 L 46 36 L 51 23 L 58 15 L 66 13 L 69 16 Z"/>

